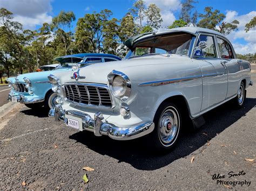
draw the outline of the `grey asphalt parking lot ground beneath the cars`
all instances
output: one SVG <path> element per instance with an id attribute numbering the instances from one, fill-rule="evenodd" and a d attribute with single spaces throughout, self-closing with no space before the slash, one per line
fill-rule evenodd
<path id="1" fill-rule="evenodd" d="M 144 139 L 77 132 L 17 103 L 1 119 L 0 188 L 255 190 L 256 74 L 252 80 L 243 108 L 226 103 L 208 112 L 202 129 L 183 132 L 164 155 L 152 154 Z M 214 174 L 224 183 L 217 185 Z M 247 183 L 233 185 L 241 181 Z"/>

